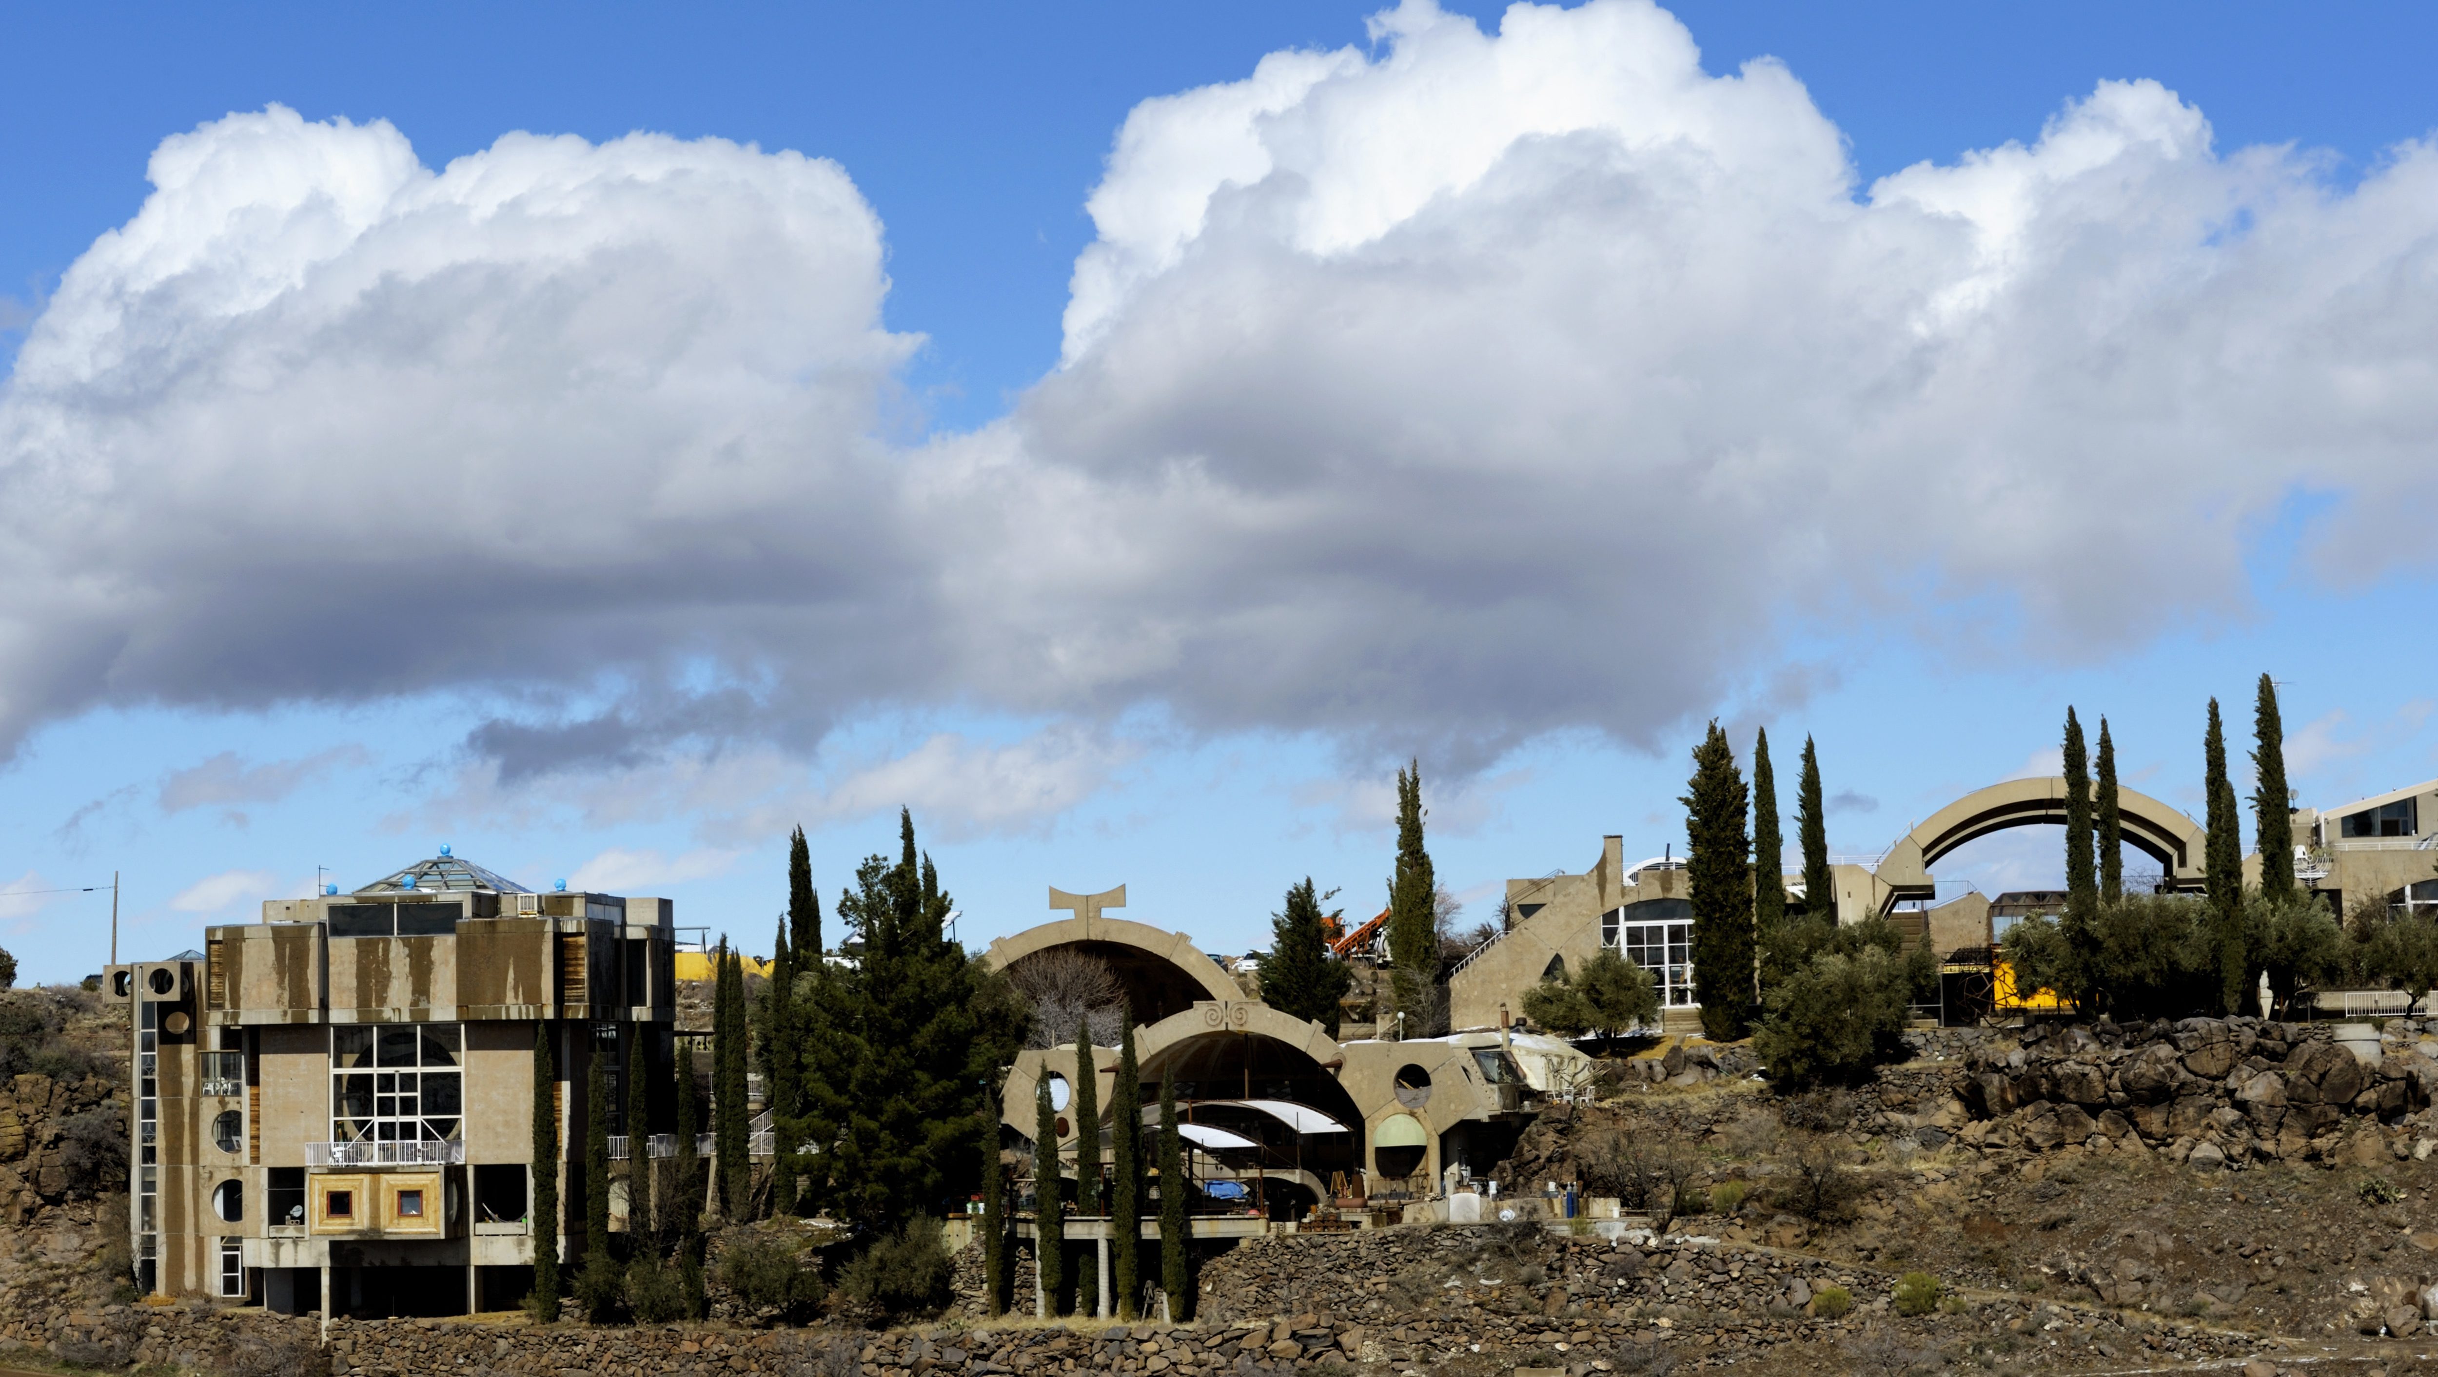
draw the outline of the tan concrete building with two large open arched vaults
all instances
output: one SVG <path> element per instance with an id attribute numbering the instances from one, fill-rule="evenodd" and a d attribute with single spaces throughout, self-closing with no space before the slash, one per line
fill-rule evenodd
<path id="1" fill-rule="evenodd" d="M 985 960 L 1022 975 L 1029 960 L 1075 953 L 1104 963 L 1134 1011 L 1143 1104 L 1170 1077 L 1195 1143 L 1195 1180 L 1273 1216 L 1353 1194 L 1438 1197 L 1453 1175 L 1487 1172 L 1546 1094 L 1582 1082 L 1590 1060 L 1565 1043 L 1499 1033 L 1429 1041 L 1336 1041 L 1321 1024 L 1248 997 L 1185 933 L 1109 916 L 1124 887 L 1063 894 L 1073 919 L 990 943 Z M 1082 1133 L 1107 1136 L 1117 1048 L 1090 1048 L 1102 1124 L 1073 1116 L 1075 1046 L 1024 1050 L 1002 1092 L 1002 1133 L 1029 1143 L 1036 1087 L 1058 1109 L 1056 1153 L 1073 1170 Z M 1107 1163 L 1107 1155 L 1102 1158 Z M 1221 1187 L 1224 1182 L 1224 1187 Z"/>

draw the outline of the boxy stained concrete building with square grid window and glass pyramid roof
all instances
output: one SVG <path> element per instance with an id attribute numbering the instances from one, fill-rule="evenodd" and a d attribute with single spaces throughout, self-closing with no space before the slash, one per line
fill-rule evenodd
<path id="1" fill-rule="evenodd" d="M 266 902 L 200 953 L 110 968 L 139 1077 L 144 1289 L 290 1314 L 517 1304 L 536 1245 L 585 1245 L 566 1165 L 561 1219 L 529 1219 L 536 1026 L 566 1153 L 592 1058 L 614 1085 L 668 1075 L 670 921 L 668 899 L 536 894 L 444 848 L 349 894 Z"/>

